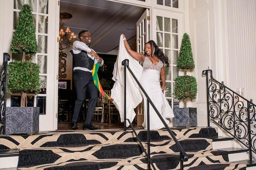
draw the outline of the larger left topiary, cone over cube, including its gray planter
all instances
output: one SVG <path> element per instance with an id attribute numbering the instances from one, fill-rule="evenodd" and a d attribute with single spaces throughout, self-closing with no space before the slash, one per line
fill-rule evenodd
<path id="1" fill-rule="evenodd" d="M 25 57 L 35 54 L 38 45 L 35 37 L 32 12 L 29 5 L 23 5 L 20 18 L 12 39 L 12 53 L 22 54 L 22 61 L 10 62 L 7 74 L 7 91 L 20 93 L 20 107 L 6 107 L 5 133 L 35 133 L 39 131 L 39 107 L 26 107 L 26 94 L 40 91 L 39 67 L 25 61 Z"/>

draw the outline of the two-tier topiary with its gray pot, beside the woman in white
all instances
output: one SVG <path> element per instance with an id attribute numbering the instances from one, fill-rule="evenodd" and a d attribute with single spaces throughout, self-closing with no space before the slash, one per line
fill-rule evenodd
<path id="1" fill-rule="evenodd" d="M 175 79 L 174 96 L 176 99 L 183 101 L 184 108 L 174 109 L 174 126 L 197 126 L 196 108 L 186 107 L 188 99 L 195 99 L 197 94 L 197 82 L 195 77 L 186 74 L 188 70 L 195 68 L 191 42 L 187 33 L 183 34 L 177 68 L 184 71 L 184 76 L 178 76 Z"/>

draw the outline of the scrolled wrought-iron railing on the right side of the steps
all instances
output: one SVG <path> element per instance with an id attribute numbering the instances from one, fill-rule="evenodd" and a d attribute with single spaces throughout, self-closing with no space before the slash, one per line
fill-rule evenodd
<path id="1" fill-rule="evenodd" d="M 214 122 L 241 144 L 256 153 L 256 105 L 212 77 L 212 70 L 204 70 L 207 84 L 208 127 Z"/>

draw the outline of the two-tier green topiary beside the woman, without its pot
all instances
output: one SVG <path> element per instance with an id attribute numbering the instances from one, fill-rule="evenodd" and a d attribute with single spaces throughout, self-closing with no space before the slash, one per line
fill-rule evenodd
<path id="1" fill-rule="evenodd" d="M 191 42 L 187 33 L 183 34 L 177 68 L 184 70 L 184 76 L 178 76 L 175 79 L 173 94 L 176 99 L 184 102 L 186 108 L 188 99 L 195 99 L 197 94 L 197 82 L 195 77 L 186 75 L 187 70 L 195 68 Z"/>

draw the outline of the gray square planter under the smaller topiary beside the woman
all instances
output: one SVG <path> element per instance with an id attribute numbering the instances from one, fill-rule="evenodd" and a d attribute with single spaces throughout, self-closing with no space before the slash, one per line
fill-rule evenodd
<path id="1" fill-rule="evenodd" d="M 174 126 L 175 127 L 195 127 L 197 126 L 196 108 L 175 108 Z"/>

